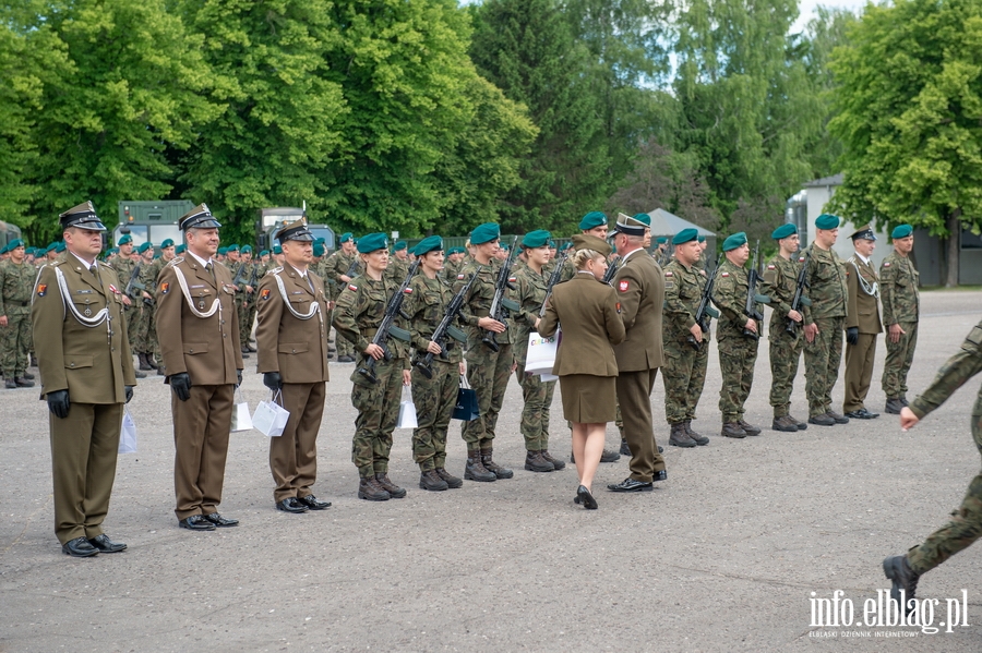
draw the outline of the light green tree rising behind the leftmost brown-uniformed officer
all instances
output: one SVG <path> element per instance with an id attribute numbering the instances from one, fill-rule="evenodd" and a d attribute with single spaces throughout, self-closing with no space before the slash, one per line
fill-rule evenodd
<path id="1" fill-rule="evenodd" d="M 67 57 L 35 100 L 37 156 L 24 173 L 36 185 L 40 241 L 56 230 L 52 216 L 85 199 L 112 225 L 118 201 L 166 197 L 175 176 L 167 148 L 190 147 L 214 112 L 200 95 L 208 86 L 201 38 L 163 0 L 37 7 L 24 33 Z"/>

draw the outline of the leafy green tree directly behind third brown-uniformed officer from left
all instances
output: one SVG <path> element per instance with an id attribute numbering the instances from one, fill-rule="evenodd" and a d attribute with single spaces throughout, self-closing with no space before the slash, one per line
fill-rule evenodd
<path id="1" fill-rule="evenodd" d="M 252 242 L 256 209 L 299 206 L 324 216 L 345 144 L 348 108 L 328 58 L 340 47 L 327 0 L 182 0 L 179 11 L 203 41 L 215 119 L 195 147 L 176 156 L 179 194 L 206 202 L 228 228 L 223 238 Z"/>

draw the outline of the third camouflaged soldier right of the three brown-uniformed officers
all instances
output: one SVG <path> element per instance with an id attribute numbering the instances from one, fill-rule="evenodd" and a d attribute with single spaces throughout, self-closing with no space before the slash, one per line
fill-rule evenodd
<path id="1" fill-rule="evenodd" d="M 490 316 L 491 302 L 494 298 L 494 285 L 502 263 L 494 258 L 500 250 L 501 231 L 494 222 L 480 225 L 470 232 L 474 249 L 474 261 L 464 266 L 457 275 L 454 292 L 460 290 L 470 275 L 477 275 L 470 292 L 464 298 L 460 311 L 467 329 L 467 380 L 477 394 L 480 416 L 464 422 L 462 436 L 467 443 L 467 465 L 464 477 L 468 481 L 495 481 L 511 479 L 515 473 L 494 462 L 494 428 L 498 425 L 498 413 L 504 402 L 508 376 L 515 368 L 514 350 L 512 348 L 512 330 L 507 325 Z M 512 281 L 514 283 L 514 280 Z M 505 299 L 514 304 L 511 291 L 505 291 Z M 482 340 L 496 342 L 496 351 Z"/>

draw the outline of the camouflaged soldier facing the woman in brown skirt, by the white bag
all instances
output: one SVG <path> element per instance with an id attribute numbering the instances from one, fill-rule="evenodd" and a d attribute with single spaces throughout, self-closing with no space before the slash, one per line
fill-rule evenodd
<path id="1" fill-rule="evenodd" d="M 515 375 L 522 386 L 520 430 L 525 437 L 525 469 L 530 472 L 551 472 L 566 467 L 562 460 L 549 454 L 549 411 L 552 396 L 555 392 L 555 380 L 543 382 L 541 376 L 525 373 L 528 353 L 528 337 L 539 325 L 539 312 L 546 301 L 549 276 L 546 263 L 549 259 L 549 232 L 530 231 L 522 239 L 522 250 L 526 253 L 527 264 L 515 274 L 515 301 L 522 306 L 512 313 L 512 328 L 515 361 L 518 366 Z"/>

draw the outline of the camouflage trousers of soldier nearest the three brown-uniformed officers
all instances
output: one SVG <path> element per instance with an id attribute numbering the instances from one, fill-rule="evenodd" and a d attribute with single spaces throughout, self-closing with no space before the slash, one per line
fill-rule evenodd
<path id="1" fill-rule="evenodd" d="M 375 361 L 376 384 L 358 372 L 364 362 L 364 354 L 359 355 L 351 373 L 351 406 L 358 410 L 355 437 L 351 439 L 351 462 L 358 468 L 358 474 L 368 479 L 375 473 L 388 472 L 392 432 L 399 419 L 403 359 Z"/>

